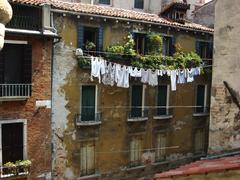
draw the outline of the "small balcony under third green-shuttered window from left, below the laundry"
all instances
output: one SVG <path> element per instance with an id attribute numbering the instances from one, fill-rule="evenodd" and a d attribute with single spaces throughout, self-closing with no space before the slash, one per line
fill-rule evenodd
<path id="1" fill-rule="evenodd" d="M 160 107 L 153 109 L 153 119 L 163 120 L 173 118 L 173 108 L 169 107 Z"/>

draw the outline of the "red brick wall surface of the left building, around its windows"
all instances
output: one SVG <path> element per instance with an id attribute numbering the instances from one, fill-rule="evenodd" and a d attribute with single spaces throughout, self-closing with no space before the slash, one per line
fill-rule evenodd
<path id="1" fill-rule="evenodd" d="M 36 101 L 51 100 L 52 42 L 9 35 L 6 39 L 32 45 L 32 96 L 26 101 L 1 102 L 0 121 L 27 120 L 27 159 L 32 162 L 29 179 L 37 179 L 51 172 L 51 109 L 36 107 Z"/>

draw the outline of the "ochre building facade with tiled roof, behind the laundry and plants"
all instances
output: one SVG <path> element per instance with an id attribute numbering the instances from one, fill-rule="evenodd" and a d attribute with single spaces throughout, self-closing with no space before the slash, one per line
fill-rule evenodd
<path id="1" fill-rule="evenodd" d="M 151 177 L 206 154 L 210 74 L 178 85 L 176 92 L 170 90 L 167 77 L 160 79 L 158 87 L 138 80 L 131 80 L 130 88 L 111 87 L 92 82 L 90 69 L 79 67 L 75 54 L 87 40 L 94 41 L 101 52 L 124 41 L 129 33 L 139 37 L 135 39 L 137 50 L 144 50 L 141 37 L 151 31 L 169 39 L 165 44 L 169 53 L 180 44 L 185 52 L 200 48 L 202 58 L 209 60 L 211 29 L 170 23 L 154 14 L 81 3 L 53 3 L 51 11 L 62 37 L 54 48 L 53 62 L 56 179 Z M 158 102 L 165 107 L 162 114 L 156 113 Z M 200 111 L 194 108 L 198 103 L 203 107 Z M 132 116 L 136 105 L 142 106 L 137 119 Z M 89 111 L 91 121 L 85 118 Z"/>

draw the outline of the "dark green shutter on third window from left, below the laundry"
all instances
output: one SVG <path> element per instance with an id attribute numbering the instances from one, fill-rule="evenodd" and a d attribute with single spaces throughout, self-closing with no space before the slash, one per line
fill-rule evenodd
<path id="1" fill-rule="evenodd" d="M 167 106 L 167 86 L 166 85 L 160 85 L 158 86 L 158 106 Z M 157 115 L 166 115 L 167 114 L 167 108 L 166 107 L 160 107 L 157 108 Z"/>

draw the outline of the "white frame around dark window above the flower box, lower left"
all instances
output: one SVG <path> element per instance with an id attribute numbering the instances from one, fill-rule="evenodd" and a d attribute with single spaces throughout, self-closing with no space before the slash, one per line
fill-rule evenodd
<path id="1" fill-rule="evenodd" d="M 14 120 L 0 120 L 0 166 L 2 166 L 2 125 L 23 123 L 23 159 L 27 159 L 27 120 L 14 119 Z"/>

